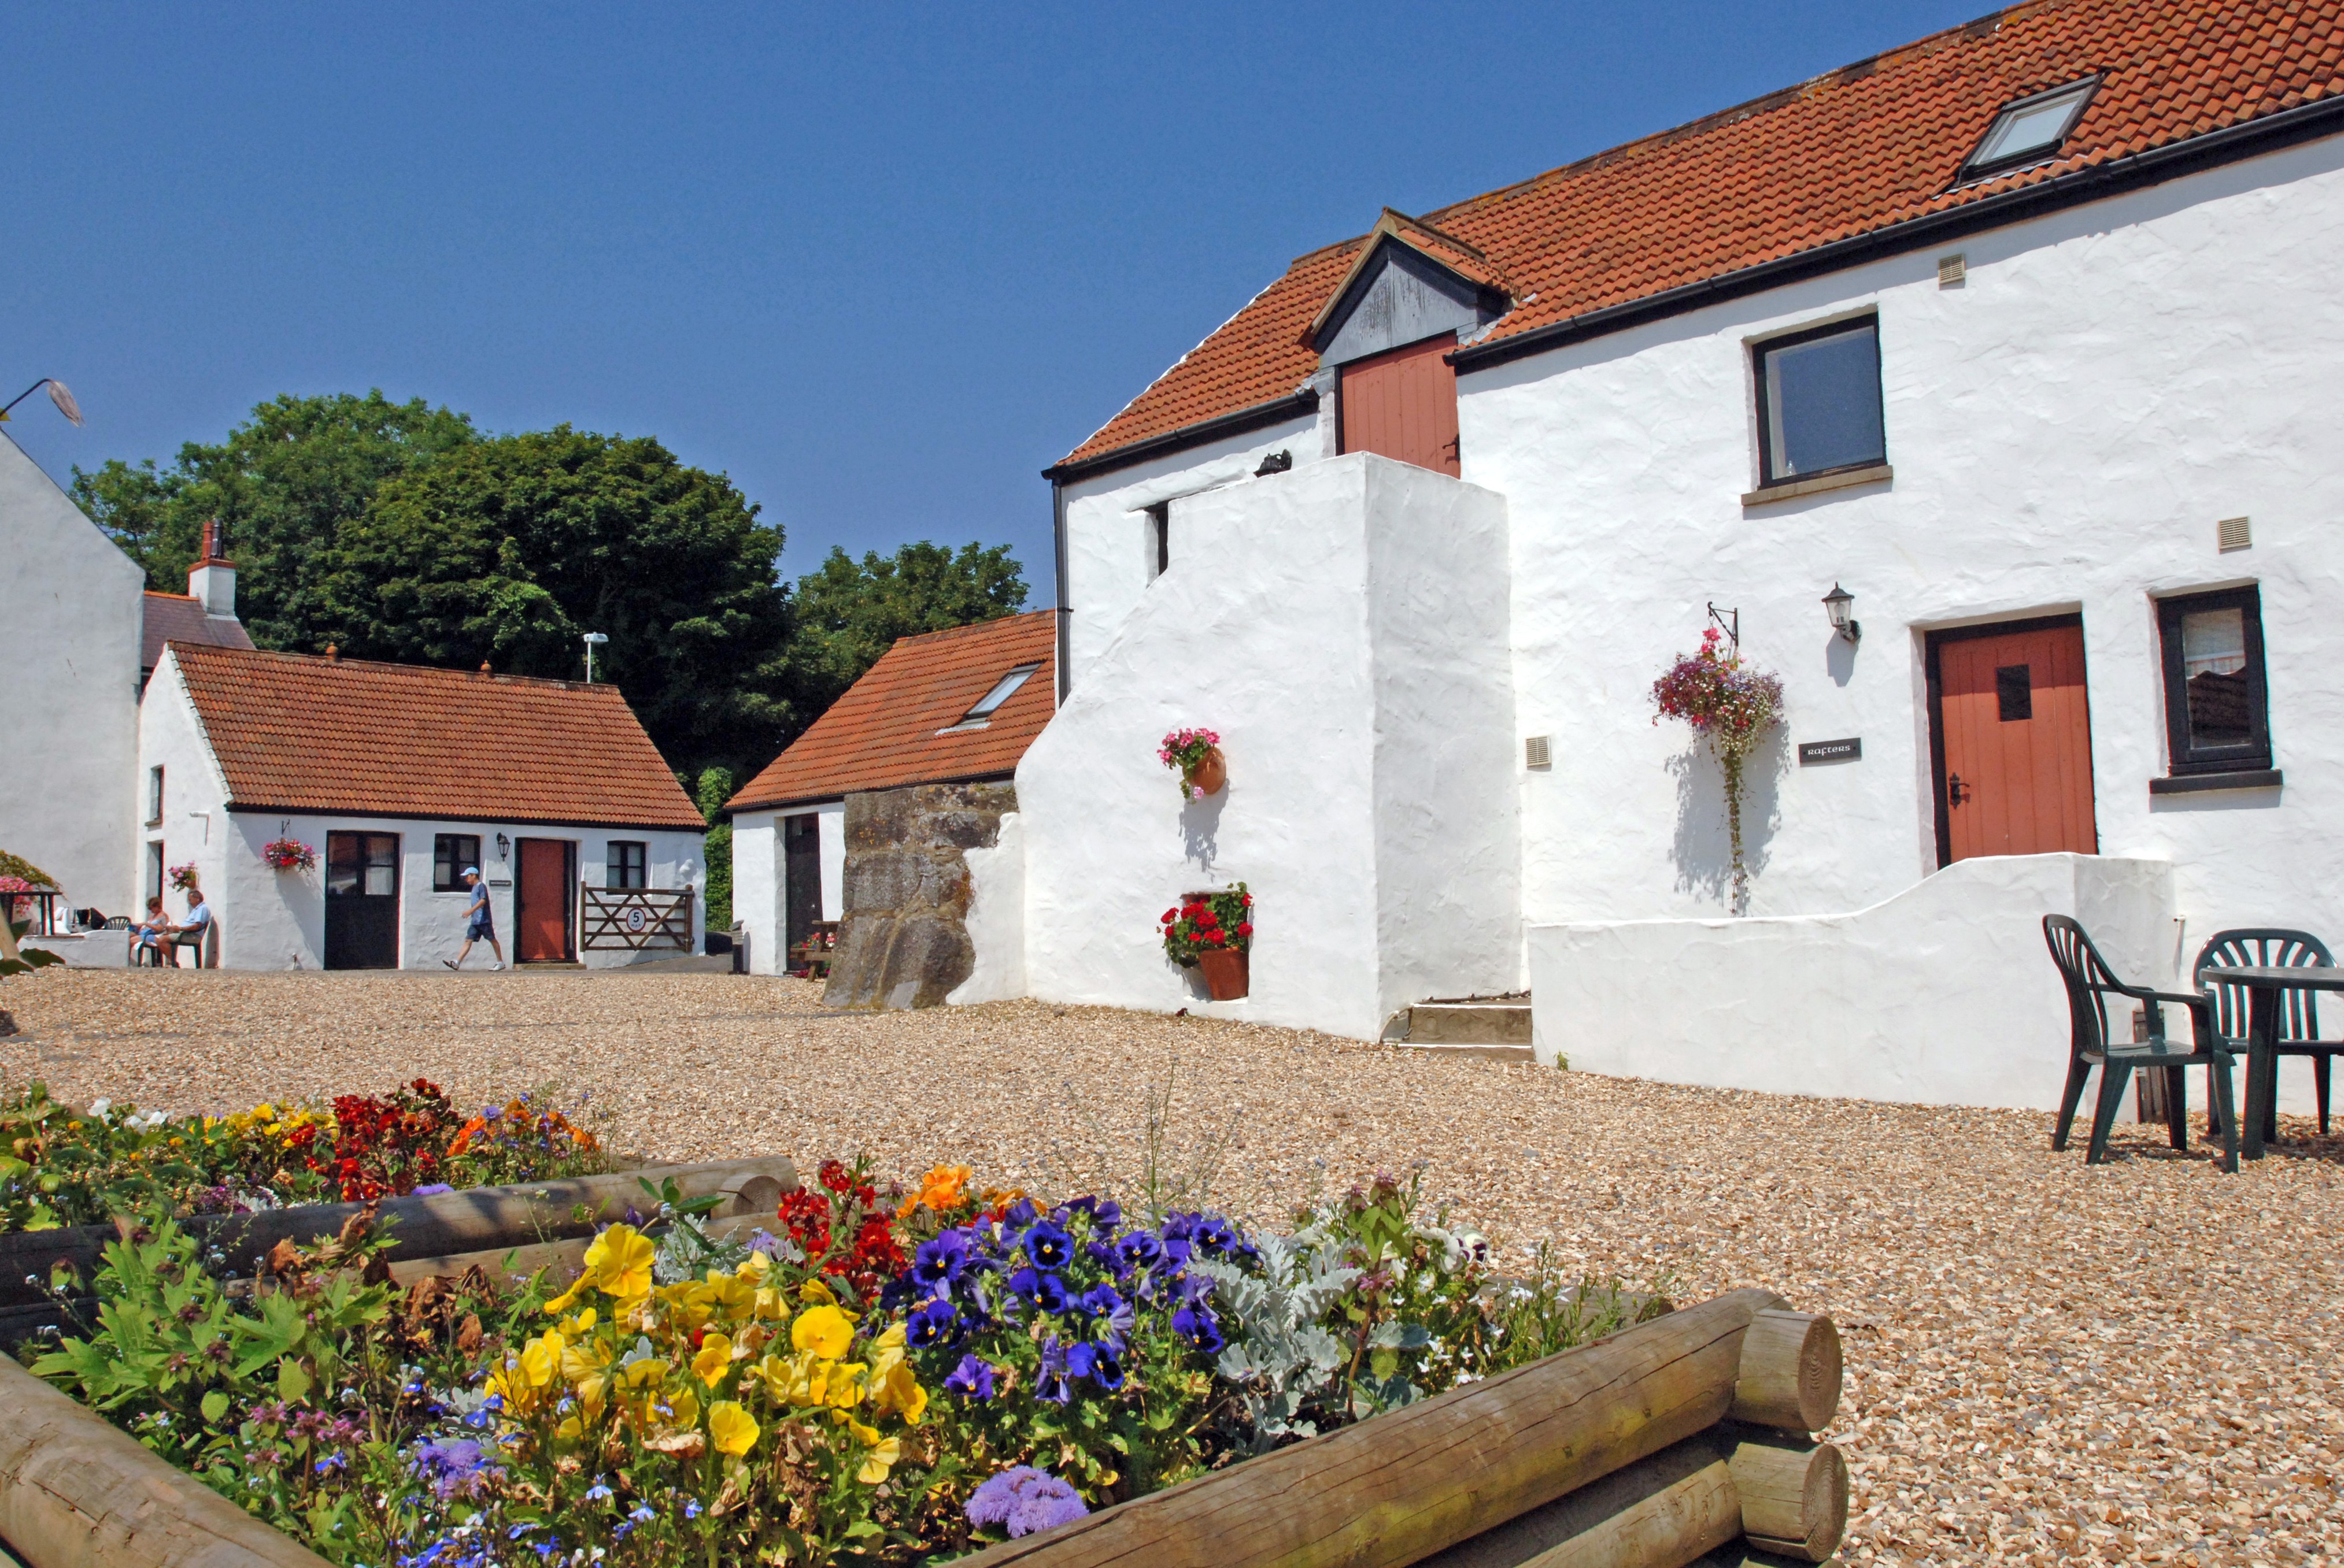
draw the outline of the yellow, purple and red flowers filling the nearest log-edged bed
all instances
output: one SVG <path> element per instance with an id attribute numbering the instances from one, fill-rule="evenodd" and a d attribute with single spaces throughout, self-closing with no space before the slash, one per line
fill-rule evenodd
<path id="1" fill-rule="evenodd" d="M 966 1167 L 905 1193 L 832 1163 L 755 1230 L 694 1207 L 518 1289 L 396 1291 L 361 1223 L 237 1294 L 164 1221 L 35 1371 L 338 1563 L 919 1563 L 1664 1310 L 1505 1280 L 1395 1181 L 1289 1230 Z"/>

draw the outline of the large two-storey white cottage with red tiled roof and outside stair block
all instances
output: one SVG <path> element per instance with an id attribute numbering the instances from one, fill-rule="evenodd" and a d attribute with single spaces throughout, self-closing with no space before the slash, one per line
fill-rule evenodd
<path id="1" fill-rule="evenodd" d="M 2042 914 L 2344 942 L 2339 35 L 2023 5 L 1299 258 L 1048 471 L 1024 987 L 1207 1005 L 1156 919 L 1245 879 L 1219 1010 L 1528 987 L 1578 1066 L 2053 1104 Z M 1650 705 L 1716 623 L 1786 691 L 1746 919 Z"/>

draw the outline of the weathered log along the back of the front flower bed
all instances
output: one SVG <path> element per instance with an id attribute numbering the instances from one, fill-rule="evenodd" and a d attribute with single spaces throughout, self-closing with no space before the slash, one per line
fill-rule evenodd
<path id="1" fill-rule="evenodd" d="M 797 1167 L 788 1158 L 762 1160 L 713 1160 L 706 1165 L 654 1165 L 647 1170 L 624 1170 L 607 1177 L 577 1177 L 570 1181 L 527 1181 L 520 1186 L 476 1186 L 462 1193 L 438 1193 L 431 1198 L 387 1198 L 382 1216 L 396 1219 L 391 1230 L 391 1254 L 401 1259 L 438 1259 L 457 1252 L 483 1252 L 492 1247 L 527 1247 L 534 1242 L 588 1235 L 598 1226 L 624 1219 L 628 1209 L 649 1214 L 656 1202 L 642 1191 L 642 1181 L 659 1186 L 675 1179 L 684 1198 L 724 1193 L 736 1184 L 727 1209 L 755 1202 L 771 1181 L 774 1200 L 797 1186 Z M 183 1221 L 190 1235 L 227 1254 L 227 1266 L 248 1273 L 255 1256 L 265 1256 L 277 1242 L 312 1242 L 319 1235 L 335 1235 L 342 1223 L 363 1209 L 356 1202 L 312 1202 L 288 1209 L 263 1209 L 258 1214 L 216 1214 Z M 771 1212 L 771 1205 L 766 1205 Z M 23 1230 L 0 1235 L 0 1308 L 33 1305 L 45 1298 L 45 1284 L 54 1263 L 68 1263 L 89 1280 L 115 1240 L 113 1226 L 75 1226 L 68 1230 Z"/>

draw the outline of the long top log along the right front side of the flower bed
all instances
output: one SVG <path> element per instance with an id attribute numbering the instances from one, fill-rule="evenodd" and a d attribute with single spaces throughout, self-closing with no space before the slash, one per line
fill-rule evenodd
<path id="1" fill-rule="evenodd" d="M 1732 1291 L 963 1566 L 1402 1568 L 1713 1427 L 1779 1305 Z"/>

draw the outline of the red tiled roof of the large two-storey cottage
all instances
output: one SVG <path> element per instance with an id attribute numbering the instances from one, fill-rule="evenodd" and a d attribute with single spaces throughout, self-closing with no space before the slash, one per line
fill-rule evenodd
<path id="1" fill-rule="evenodd" d="M 2093 73 L 2060 157 L 1955 188 L 1995 110 Z M 1514 288 L 1500 342 L 2339 91 L 2344 0 L 2037 0 L 1423 220 Z M 1362 244 L 1296 258 L 1062 462 L 1294 396 Z"/>

